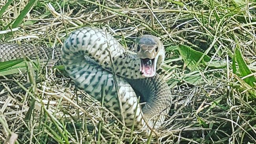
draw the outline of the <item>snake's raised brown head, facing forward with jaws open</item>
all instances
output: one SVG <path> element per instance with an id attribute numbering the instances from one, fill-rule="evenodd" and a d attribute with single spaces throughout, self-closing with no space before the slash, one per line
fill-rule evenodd
<path id="1" fill-rule="evenodd" d="M 155 76 L 158 69 L 157 66 L 160 66 L 161 64 L 159 63 L 162 63 L 158 61 L 158 57 L 160 54 L 163 54 L 164 57 L 164 48 L 160 39 L 153 35 L 142 35 L 136 40 L 135 48 L 141 60 L 139 70 L 142 76 Z"/>

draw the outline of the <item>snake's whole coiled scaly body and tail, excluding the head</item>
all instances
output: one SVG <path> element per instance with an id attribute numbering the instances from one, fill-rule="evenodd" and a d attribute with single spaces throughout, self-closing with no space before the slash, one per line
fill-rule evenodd
<path id="1" fill-rule="evenodd" d="M 145 44 L 145 39 L 141 41 Z M 52 51 L 51 48 L 35 48 L 28 44 L 0 42 L 0 62 L 20 59 L 23 55 L 45 59 L 46 56 L 52 57 Z M 138 55 L 123 48 L 109 33 L 91 27 L 75 30 L 65 40 L 62 50 L 55 50 L 54 56 L 65 66 L 75 84 L 96 100 L 101 101 L 104 87 L 104 106 L 121 120 L 114 70 L 127 127 L 132 127 L 134 118 L 135 127 L 144 130 L 148 129 L 144 120 L 154 129 L 165 120 L 171 106 L 171 91 L 167 83 L 157 73 L 149 78 L 142 76 Z M 144 106 L 139 105 L 135 91 L 143 96 Z"/>

